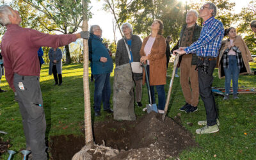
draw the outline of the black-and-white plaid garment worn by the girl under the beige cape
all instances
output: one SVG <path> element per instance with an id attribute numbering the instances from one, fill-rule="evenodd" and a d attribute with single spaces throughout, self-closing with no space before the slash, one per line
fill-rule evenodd
<path id="1" fill-rule="evenodd" d="M 242 55 L 241 55 L 241 51 L 236 46 L 232 47 L 231 49 L 236 52 L 237 67 L 239 69 L 243 68 L 243 58 L 242 58 Z M 223 68 L 228 68 L 228 61 L 229 61 L 228 52 L 229 51 L 230 51 L 230 49 L 227 48 L 223 52 Z"/>

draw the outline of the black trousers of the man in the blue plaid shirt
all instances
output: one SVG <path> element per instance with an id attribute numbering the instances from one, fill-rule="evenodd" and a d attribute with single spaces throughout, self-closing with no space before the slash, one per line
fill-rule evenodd
<path id="1" fill-rule="evenodd" d="M 204 102 L 207 125 L 212 126 L 216 124 L 216 118 L 218 118 L 218 109 L 216 108 L 214 95 L 212 93 L 212 74 L 216 66 L 216 60 L 198 60 L 198 63 L 202 62 L 206 63 L 209 68 L 207 69 L 207 73 L 205 73 L 202 67 L 198 67 L 199 93 Z"/>

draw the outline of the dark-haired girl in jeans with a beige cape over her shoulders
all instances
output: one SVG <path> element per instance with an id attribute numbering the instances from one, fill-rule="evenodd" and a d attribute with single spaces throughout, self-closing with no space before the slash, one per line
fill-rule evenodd
<path id="1" fill-rule="evenodd" d="M 218 58 L 219 78 L 225 77 L 225 97 L 229 99 L 230 81 L 233 83 L 233 99 L 238 99 L 239 74 L 251 74 L 249 61 L 253 61 L 250 51 L 235 28 L 225 29 L 228 39 L 224 40 Z"/>

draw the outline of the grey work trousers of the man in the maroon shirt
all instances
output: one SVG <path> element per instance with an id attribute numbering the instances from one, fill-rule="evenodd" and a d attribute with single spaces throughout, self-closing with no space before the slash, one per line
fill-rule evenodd
<path id="1" fill-rule="evenodd" d="M 33 160 L 46 160 L 46 122 L 39 77 L 14 74 L 13 84 L 22 116 L 26 149 L 31 150 Z"/>

